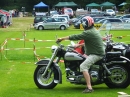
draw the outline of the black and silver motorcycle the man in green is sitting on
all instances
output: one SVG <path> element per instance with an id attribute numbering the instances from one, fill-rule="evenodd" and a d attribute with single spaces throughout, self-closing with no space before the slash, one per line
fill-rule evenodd
<path id="1" fill-rule="evenodd" d="M 52 89 L 62 83 L 62 72 L 58 65 L 64 60 L 66 79 L 77 85 L 86 85 L 80 72 L 80 64 L 86 59 L 74 50 L 72 46 L 64 46 L 57 41 L 58 46 L 52 46 L 50 59 L 36 62 L 34 82 L 38 88 Z M 92 85 L 105 83 L 109 88 L 127 88 L 130 84 L 130 60 L 121 56 L 121 52 L 106 52 L 104 57 L 93 64 L 89 70 Z"/>

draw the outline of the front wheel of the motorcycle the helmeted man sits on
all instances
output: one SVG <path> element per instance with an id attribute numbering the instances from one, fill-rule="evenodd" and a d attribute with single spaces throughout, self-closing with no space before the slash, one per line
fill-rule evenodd
<path id="1" fill-rule="evenodd" d="M 38 65 L 34 72 L 34 82 L 40 89 L 53 89 L 57 83 L 54 83 L 54 79 L 58 77 L 58 71 L 51 67 L 48 69 L 47 74 L 43 76 L 46 66 Z"/>

